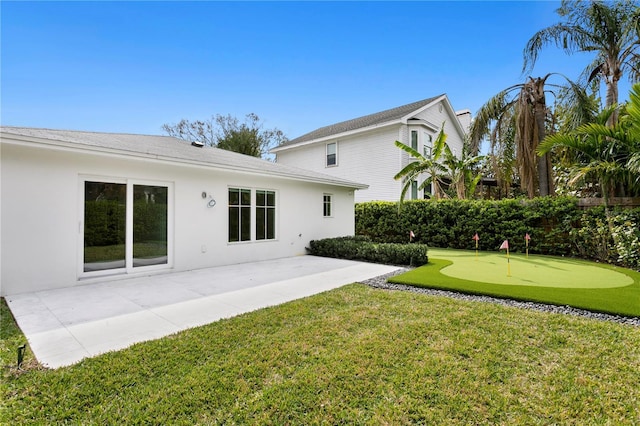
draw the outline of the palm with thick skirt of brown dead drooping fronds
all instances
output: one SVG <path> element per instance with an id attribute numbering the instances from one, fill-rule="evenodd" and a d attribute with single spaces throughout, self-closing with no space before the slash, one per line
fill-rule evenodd
<path id="1" fill-rule="evenodd" d="M 552 75 L 555 74 L 549 73 L 542 78 L 529 77 L 525 83 L 513 85 L 496 94 L 480 108 L 469 131 L 470 147 L 476 153 L 480 148 L 480 141 L 487 135 L 490 136 L 493 150 L 496 145 L 509 142 L 508 139 L 500 139 L 505 133 L 515 134 L 513 141 L 516 145 L 520 184 L 529 198 L 536 194 L 544 196 L 554 193 L 550 158 L 546 155 L 538 158 L 536 155 L 538 144 L 546 136 L 546 119 L 549 114 L 546 104 L 546 93 L 549 91 L 547 87 L 562 88 L 547 84 Z M 582 100 L 587 98 L 584 90 L 564 78 L 576 105 L 582 105 Z M 491 124 L 494 124 L 493 130 Z"/>

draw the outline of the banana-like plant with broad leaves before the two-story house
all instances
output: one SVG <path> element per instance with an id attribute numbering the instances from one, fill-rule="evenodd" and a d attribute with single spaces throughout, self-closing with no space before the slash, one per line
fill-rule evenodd
<path id="1" fill-rule="evenodd" d="M 433 188 L 433 196 L 436 200 L 439 200 L 446 196 L 443 185 L 445 184 L 444 177 L 447 174 L 447 168 L 440 162 L 440 157 L 444 152 L 447 140 L 447 135 L 444 133 L 444 123 L 442 130 L 438 133 L 438 137 L 433 141 L 433 147 L 431 149 L 431 155 L 427 158 L 420 154 L 415 149 L 403 144 L 400 141 L 395 141 L 395 145 L 415 158 L 415 161 L 407 164 L 402 170 L 400 170 L 393 178 L 395 180 L 402 179 L 402 192 L 400 193 L 400 203 L 404 201 L 409 188 L 414 181 L 418 180 L 418 177 L 422 174 L 426 174 L 427 178 L 420 184 L 418 190 L 423 190 L 426 186 L 431 185 Z"/>

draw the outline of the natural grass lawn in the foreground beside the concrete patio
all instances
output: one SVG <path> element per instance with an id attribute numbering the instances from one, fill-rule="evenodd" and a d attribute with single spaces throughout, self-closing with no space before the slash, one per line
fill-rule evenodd
<path id="1" fill-rule="evenodd" d="M 0 423 L 634 424 L 640 327 L 355 284 L 3 379 Z"/>

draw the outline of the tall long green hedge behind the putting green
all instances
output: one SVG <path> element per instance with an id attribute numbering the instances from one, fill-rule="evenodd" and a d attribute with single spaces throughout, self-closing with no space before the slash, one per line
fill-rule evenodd
<path id="1" fill-rule="evenodd" d="M 510 250 L 524 252 L 528 233 L 531 253 L 640 268 L 640 209 L 613 210 L 615 226 L 611 231 L 608 226 L 604 231 L 600 227 L 599 241 L 594 241 L 593 224 L 608 223 L 604 209 L 581 210 L 573 197 L 415 200 L 403 203 L 400 209 L 398 203 L 374 201 L 356 204 L 355 213 L 356 235 L 374 242 L 406 243 L 413 231 L 416 243 L 472 250 L 477 232 L 480 250 L 498 250 L 509 240 Z"/>

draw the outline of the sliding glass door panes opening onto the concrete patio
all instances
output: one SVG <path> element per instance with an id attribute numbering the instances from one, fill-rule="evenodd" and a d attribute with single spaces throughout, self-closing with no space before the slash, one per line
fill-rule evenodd
<path id="1" fill-rule="evenodd" d="M 85 180 L 82 271 L 167 265 L 169 195 L 167 185 Z"/>

